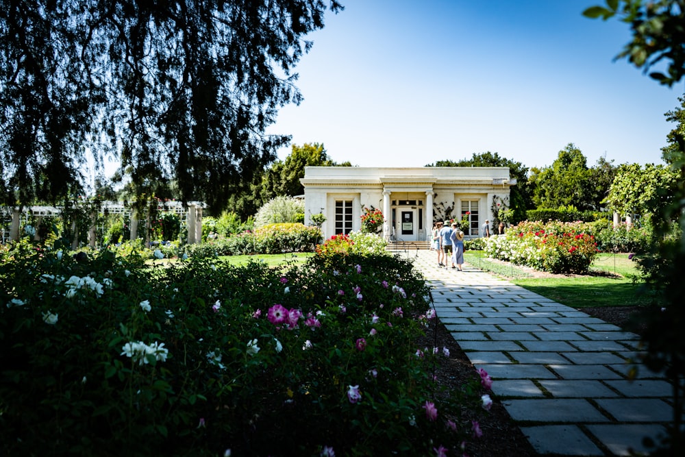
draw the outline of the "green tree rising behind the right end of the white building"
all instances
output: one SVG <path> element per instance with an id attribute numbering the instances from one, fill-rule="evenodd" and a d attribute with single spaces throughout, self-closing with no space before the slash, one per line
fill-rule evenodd
<path id="1" fill-rule="evenodd" d="M 510 177 L 516 180 L 516 186 L 510 188 L 510 208 L 514 213 L 512 221 L 518 222 L 525 219 L 525 211 L 530 208 L 532 199 L 528 186 L 528 169 L 521 162 L 499 156 L 495 152 L 473 153 L 470 159 L 462 159 L 458 162 L 452 160 L 438 160 L 435 164 L 426 166 L 507 166 Z"/>

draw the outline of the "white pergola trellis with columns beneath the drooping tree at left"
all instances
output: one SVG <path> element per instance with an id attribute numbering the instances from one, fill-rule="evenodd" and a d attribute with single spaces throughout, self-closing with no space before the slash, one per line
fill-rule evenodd
<path id="1" fill-rule="evenodd" d="M 202 240 L 202 210 L 206 208 L 206 204 L 201 201 L 189 201 L 187 206 L 183 206 L 180 201 L 160 201 L 157 211 L 159 213 L 173 213 L 181 220 L 181 230 L 187 229 L 188 237 L 187 243 L 199 243 Z M 62 207 L 56 206 L 27 206 L 19 210 L 19 208 L 11 208 L 8 206 L 0 206 L 0 241 L 8 243 L 16 241 L 21 236 L 21 228 L 29 225 L 29 221 L 35 221 L 36 226 L 39 226 L 45 219 L 53 217 L 60 217 L 62 214 Z M 139 215 L 136 210 L 130 208 L 128 205 L 119 201 L 105 201 L 101 204 L 99 214 L 122 214 L 124 217 L 130 219 L 131 239 L 136 239 L 138 232 L 138 224 L 147 222 L 147 214 Z M 139 217 L 142 216 L 142 217 Z M 96 218 L 93 217 L 93 220 Z M 75 228 L 75 227 L 73 227 Z M 92 225 L 88 232 L 88 245 L 95 247 L 97 225 Z M 35 240 L 40 240 L 40 236 L 36 232 Z M 75 240 L 74 249 L 77 247 L 78 241 Z"/>

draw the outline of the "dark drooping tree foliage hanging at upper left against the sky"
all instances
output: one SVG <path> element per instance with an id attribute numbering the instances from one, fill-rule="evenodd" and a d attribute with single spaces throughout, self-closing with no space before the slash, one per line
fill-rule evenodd
<path id="1" fill-rule="evenodd" d="M 0 190 L 55 201 L 88 153 L 121 159 L 138 194 L 175 180 L 216 210 L 287 136 L 292 72 L 337 0 L 0 0 Z"/>

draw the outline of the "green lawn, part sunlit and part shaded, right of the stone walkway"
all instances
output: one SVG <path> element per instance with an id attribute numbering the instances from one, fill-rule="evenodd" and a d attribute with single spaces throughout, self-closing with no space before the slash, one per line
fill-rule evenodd
<path id="1" fill-rule="evenodd" d="M 529 291 L 573 308 L 649 304 L 653 296 L 643 293 L 642 282 L 633 283 L 629 276 L 638 271 L 627 257 L 627 254 L 601 254 L 590 267 L 592 271 L 607 271 L 612 275 L 532 277 L 524 269 L 488 260 L 481 251 L 464 253 L 464 260 L 475 267 L 493 271 Z"/>

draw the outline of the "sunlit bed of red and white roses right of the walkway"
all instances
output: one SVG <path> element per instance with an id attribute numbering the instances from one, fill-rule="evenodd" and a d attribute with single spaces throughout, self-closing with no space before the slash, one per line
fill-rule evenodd
<path id="1" fill-rule="evenodd" d="M 551 273 L 587 273 L 597 255 L 591 227 L 582 222 L 525 221 L 488 238 L 485 253 Z"/>

